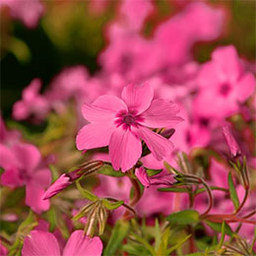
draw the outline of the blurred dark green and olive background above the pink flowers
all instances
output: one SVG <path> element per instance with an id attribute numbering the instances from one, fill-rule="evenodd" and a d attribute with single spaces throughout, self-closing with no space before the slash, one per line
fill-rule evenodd
<path id="1" fill-rule="evenodd" d="M 23 2 L 23 1 L 18 1 Z M 196 1 L 153 1 L 155 10 L 141 31 L 150 37 L 158 25 Z M 234 44 L 241 56 L 255 59 L 255 1 L 207 1 L 221 7 L 225 29 L 215 41 L 193 45 L 195 60 L 205 62 L 218 45 Z M 39 3 L 39 5 L 38 5 Z M 107 46 L 105 30 L 116 17 L 118 1 L 28 1 L 25 7 L 2 0 L 1 108 L 9 119 L 14 102 L 33 78 L 42 81 L 42 92 L 64 67 L 85 65 L 91 74 L 100 71 L 97 56 Z M 22 11 L 21 11 L 22 10 Z M 140 15 L 138 13 L 138 15 Z M 189 27 L 189 24 L 187 25 Z"/>

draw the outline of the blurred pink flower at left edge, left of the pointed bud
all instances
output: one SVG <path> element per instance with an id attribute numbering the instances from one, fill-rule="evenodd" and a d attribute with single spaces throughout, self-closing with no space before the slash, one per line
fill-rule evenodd
<path id="1" fill-rule="evenodd" d="M 9 187 L 26 186 L 26 204 L 37 214 L 49 209 L 42 200 L 44 188 L 50 184 L 48 168 L 40 166 L 40 153 L 31 144 L 16 144 L 10 149 L 0 145 L 0 165 L 5 169 L 1 184 Z"/>

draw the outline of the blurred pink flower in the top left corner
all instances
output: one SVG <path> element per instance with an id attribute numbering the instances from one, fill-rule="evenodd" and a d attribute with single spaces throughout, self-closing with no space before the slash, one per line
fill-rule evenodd
<path id="1" fill-rule="evenodd" d="M 44 9 L 39 0 L 1 0 L 0 8 L 5 5 L 9 7 L 13 18 L 21 20 L 30 29 L 37 25 Z"/>

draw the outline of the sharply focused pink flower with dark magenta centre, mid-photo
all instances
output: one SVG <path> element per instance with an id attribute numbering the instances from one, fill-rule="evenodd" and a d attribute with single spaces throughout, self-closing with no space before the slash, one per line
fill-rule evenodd
<path id="1" fill-rule="evenodd" d="M 84 117 L 91 123 L 77 135 L 78 150 L 90 150 L 109 145 L 113 168 L 124 172 L 142 155 L 141 139 L 152 154 L 161 160 L 169 156 L 173 145 L 154 133 L 149 127 L 172 126 L 182 120 L 176 116 L 176 104 L 164 99 L 154 99 L 150 85 L 127 86 L 122 99 L 117 96 L 99 96 L 92 104 L 85 103 Z"/>

